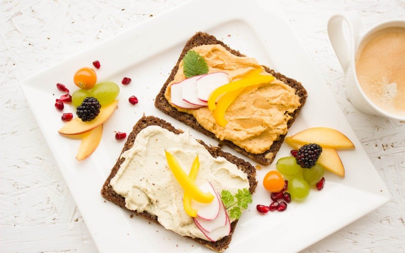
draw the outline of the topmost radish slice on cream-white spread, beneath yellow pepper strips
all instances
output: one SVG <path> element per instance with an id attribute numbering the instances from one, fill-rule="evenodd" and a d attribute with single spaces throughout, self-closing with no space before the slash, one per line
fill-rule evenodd
<path id="1" fill-rule="evenodd" d="M 205 182 L 203 185 L 199 186 L 201 191 L 210 192 L 214 195 L 214 200 L 211 203 L 200 203 L 195 200 L 191 200 L 191 207 L 197 210 L 197 216 L 204 220 L 213 220 L 218 217 L 219 210 L 221 209 L 220 199 L 218 194 L 215 192 L 211 183 Z"/>

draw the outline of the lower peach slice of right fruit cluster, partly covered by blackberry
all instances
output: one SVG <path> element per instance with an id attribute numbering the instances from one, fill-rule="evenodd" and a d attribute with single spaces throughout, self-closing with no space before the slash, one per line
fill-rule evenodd
<path id="1" fill-rule="evenodd" d="M 291 139 L 291 137 L 286 137 L 285 142 L 294 149 L 299 149 L 302 145 L 307 144 L 296 143 Z M 335 149 L 330 147 L 322 147 L 322 153 L 320 154 L 317 162 L 325 167 L 327 171 L 330 171 L 339 177 L 345 177 L 345 167 L 343 166 L 342 160 Z"/>

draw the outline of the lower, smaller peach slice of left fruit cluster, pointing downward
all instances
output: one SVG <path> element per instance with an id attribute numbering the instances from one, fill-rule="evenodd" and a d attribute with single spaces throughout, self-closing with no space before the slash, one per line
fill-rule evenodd
<path id="1" fill-rule="evenodd" d="M 86 159 L 91 155 L 94 150 L 99 146 L 101 136 L 103 135 L 103 124 L 99 125 L 95 129 L 83 134 L 82 143 L 80 143 L 79 150 L 76 154 L 78 161 Z"/>

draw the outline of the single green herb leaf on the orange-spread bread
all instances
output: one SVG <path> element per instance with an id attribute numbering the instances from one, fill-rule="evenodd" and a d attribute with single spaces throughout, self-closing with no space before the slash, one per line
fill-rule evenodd
<path id="1" fill-rule="evenodd" d="M 194 50 L 189 50 L 183 58 L 183 72 L 189 78 L 208 73 L 208 65 L 204 58 Z"/>

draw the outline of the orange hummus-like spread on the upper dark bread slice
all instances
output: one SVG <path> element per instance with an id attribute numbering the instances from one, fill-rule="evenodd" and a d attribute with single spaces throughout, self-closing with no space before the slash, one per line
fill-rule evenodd
<path id="1" fill-rule="evenodd" d="M 269 74 L 256 59 L 235 56 L 221 45 L 202 45 L 192 50 L 205 59 L 209 73 L 226 72 L 229 82 L 258 68 L 263 69 L 261 74 Z M 186 76 L 181 61 L 179 70 L 165 93 L 169 103 L 172 83 L 184 79 Z M 269 83 L 245 88 L 225 111 L 225 119 L 228 121 L 225 127 L 216 124 L 213 112 L 207 106 L 186 109 L 172 103 L 171 105 L 181 112 L 193 115 L 202 127 L 214 133 L 218 139 L 229 140 L 250 153 L 260 154 L 268 150 L 280 135 L 287 133 L 287 122 L 291 118 L 288 113 L 294 112 L 300 103 L 294 89 L 275 78 Z"/>

